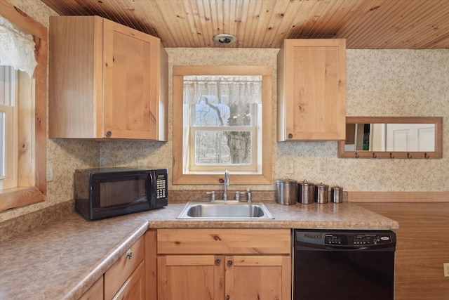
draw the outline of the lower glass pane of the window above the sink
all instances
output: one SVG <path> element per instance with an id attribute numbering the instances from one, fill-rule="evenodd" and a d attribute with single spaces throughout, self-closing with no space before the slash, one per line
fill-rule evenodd
<path id="1" fill-rule="evenodd" d="M 195 131 L 196 164 L 251 164 L 251 131 Z"/>

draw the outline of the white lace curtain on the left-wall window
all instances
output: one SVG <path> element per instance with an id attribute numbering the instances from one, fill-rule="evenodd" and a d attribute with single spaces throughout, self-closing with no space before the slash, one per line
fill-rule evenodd
<path id="1" fill-rule="evenodd" d="M 9 65 L 33 76 L 37 65 L 35 43 L 31 34 L 25 34 L 0 15 L 0 65 Z"/>

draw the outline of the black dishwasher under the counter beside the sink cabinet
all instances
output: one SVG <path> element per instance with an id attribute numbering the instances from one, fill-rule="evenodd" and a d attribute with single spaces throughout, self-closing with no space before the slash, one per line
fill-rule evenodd
<path id="1" fill-rule="evenodd" d="M 293 234 L 294 300 L 394 299 L 394 232 L 295 229 Z"/>

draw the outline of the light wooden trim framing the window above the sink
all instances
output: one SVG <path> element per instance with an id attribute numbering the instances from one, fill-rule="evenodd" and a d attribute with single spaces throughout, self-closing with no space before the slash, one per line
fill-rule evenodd
<path id="1" fill-rule="evenodd" d="M 224 172 L 217 174 L 182 174 L 183 133 L 183 81 L 184 76 L 237 75 L 262 76 L 262 174 L 230 174 L 236 184 L 272 184 L 272 73 L 269 65 L 235 65 L 223 68 L 218 65 L 173 66 L 173 184 L 220 184 Z"/>

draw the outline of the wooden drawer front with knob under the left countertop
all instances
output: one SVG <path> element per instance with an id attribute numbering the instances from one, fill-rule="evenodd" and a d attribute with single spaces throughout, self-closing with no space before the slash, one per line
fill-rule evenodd
<path id="1" fill-rule="evenodd" d="M 129 254 L 132 255 L 129 257 Z M 140 237 L 130 249 L 117 260 L 105 273 L 105 299 L 112 297 L 119 291 L 124 282 L 133 273 L 145 257 L 144 237 Z"/>

